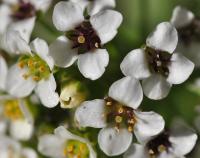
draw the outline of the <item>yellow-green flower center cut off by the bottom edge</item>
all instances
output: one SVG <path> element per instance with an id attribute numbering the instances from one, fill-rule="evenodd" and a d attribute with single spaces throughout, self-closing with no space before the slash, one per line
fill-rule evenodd
<path id="1" fill-rule="evenodd" d="M 63 152 L 66 158 L 88 158 L 90 154 L 87 144 L 78 140 L 68 140 Z"/>

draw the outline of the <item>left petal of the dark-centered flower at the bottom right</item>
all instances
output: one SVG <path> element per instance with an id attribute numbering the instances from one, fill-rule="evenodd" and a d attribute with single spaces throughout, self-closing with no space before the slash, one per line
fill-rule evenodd
<path id="1" fill-rule="evenodd" d="M 123 158 L 148 158 L 148 152 L 145 146 L 140 144 L 132 144 L 125 152 Z"/>

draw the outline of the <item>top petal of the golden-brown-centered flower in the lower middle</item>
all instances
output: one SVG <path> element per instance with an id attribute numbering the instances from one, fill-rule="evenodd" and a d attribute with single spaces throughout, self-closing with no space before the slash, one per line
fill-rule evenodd
<path id="1" fill-rule="evenodd" d="M 132 77 L 124 77 L 114 82 L 108 95 L 133 109 L 137 109 L 143 99 L 140 82 Z"/>

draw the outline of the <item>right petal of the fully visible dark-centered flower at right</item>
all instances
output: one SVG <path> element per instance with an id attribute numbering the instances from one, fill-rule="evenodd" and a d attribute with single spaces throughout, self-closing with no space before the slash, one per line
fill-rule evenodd
<path id="1" fill-rule="evenodd" d="M 167 77 L 167 81 L 172 84 L 181 84 L 193 72 L 194 64 L 180 53 L 174 53 L 168 68 L 169 76 Z"/>

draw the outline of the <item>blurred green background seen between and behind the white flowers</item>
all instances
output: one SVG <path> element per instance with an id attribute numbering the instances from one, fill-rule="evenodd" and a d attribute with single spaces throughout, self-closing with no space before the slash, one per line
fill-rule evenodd
<path id="1" fill-rule="evenodd" d="M 124 20 L 115 39 L 105 46 L 109 50 L 110 63 L 103 77 L 97 81 L 85 79 L 80 75 L 76 65 L 69 69 L 62 70 L 62 72 L 69 76 L 72 75 L 75 79 L 80 80 L 88 87 L 88 90 L 90 91 L 88 99 L 103 98 L 106 95 L 109 86 L 123 76 L 119 65 L 125 55 L 129 51 L 141 47 L 145 43 L 145 39 L 148 34 L 158 23 L 169 21 L 175 6 L 184 6 L 193 11 L 195 15 L 200 16 L 200 0 L 116 1 L 116 9 L 123 14 Z M 58 1 L 54 1 L 54 3 L 56 2 Z M 41 37 L 47 40 L 50 44 L 56 39 L 56 37 L 62 34 L 53 26 L 51 16 L 52 8 L 46 15 L 40 16 L 34 29 L 32 38 Z M 192 84 L 194 79 L 198 77 L 200 77 L 200 70 L 195 70 L 187 82 L 181 85 L 173 86 L 169 96 L 161 101 L 152 101 L 145 97 L 141 105 L 141 109 L 144 111 L 154 110 L 160 113 L 166 120 L 167 127 L 176 117 L 183 118 L 188 124 L 193 126 L 193 121 L 195 117 L 198 116 L 198 114 L 195 112 L 195 107 L 196 105 L 200 104 L 200 93 L 195 93 L 188 87 L 190 84 Z M 59 125 L 59 121 L 67 121 L 70 118 L 68 111 L 60 108 L 47 110 L 46 108 L 41 107 L 38 113 L 40 116 L 38 116 L 36 123 L 51 123 L 55 127 Z M 52 118 L 45 120 L 42 117 L 44 115 L 41 115 L 41 113 L 50 113 L 50 115 L 52 114 Z M 90 128 L 78 133 L 90 133 L 90 138 L 96 138 L 96 131 L 97 130 Z M 193 153 L 191 153 L 189 157 L 194 157 Z M 98 150 L 98 157 L 104 158 L 106 156 L 100 150 Z"/>

